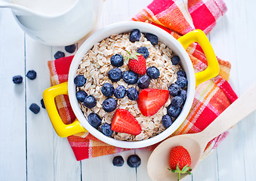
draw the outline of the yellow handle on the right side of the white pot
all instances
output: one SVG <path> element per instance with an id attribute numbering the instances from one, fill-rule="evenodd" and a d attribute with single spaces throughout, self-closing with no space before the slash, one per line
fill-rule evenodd
<path id="1" fill-rule="evenodd" d="M 217 76 L 220 72 L 219 64 L 217 63 L 217 58 L 214 54 L 214 50 L 211 47 L 211 43 L 208 40 L 207 36 L 200 29 L 195 29 L 192 32 L 187 33 L 184 36 L 181 36 L 177 39 L 180 41 L 180 44 L 187 49 L 187 47 L 193 42 L 197 42 L 201 45 L 202 50 L 205 53 L 205 57 L 208 62 L 208 67 L 202 72 L 196 73 L 196 86 L 201 84 L 204 81 L 208 81 L 211 78 Z"/>

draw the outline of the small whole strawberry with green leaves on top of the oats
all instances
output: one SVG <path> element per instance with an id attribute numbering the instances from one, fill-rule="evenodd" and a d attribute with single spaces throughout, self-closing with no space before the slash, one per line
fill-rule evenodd
<path id="1" fill-rule="evenodd" d="M 133 55 L 131 55 L 130 52 L 128 52 L 128 54 L 130 56 L 125 57 L 125 60 L 128 60 L 129 69 L 131 69 L 133 72 L 137 74 L 145 75 L 147 72 L 147 66 L 146 66 L 146 59 L 143 57 L 143 55 L 137 52 Z"/>

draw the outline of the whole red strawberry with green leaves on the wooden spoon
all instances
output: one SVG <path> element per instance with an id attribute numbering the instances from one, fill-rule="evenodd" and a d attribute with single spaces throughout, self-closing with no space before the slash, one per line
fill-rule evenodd
<path id="1" fill-rule="evenodd" d="M 191 174 L 190 153 L 183 146 L 175 146 L 170 152 L 169 165 L 171 167 L 169 170 L 178 173 L 177 180 L 180 180 L 180 173 Z"/>

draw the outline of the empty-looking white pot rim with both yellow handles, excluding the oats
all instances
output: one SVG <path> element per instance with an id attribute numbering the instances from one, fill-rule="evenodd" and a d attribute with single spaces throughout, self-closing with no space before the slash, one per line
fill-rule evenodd
<path id="1" fill-rule="evenodd" d="M 106 137 L 105 135 L 103 135 L 103 133 L 101 133 L 88 123 L 82 113 L 82 110 L 79 108 L 78 101 L 76 100 L 76 85 L 74 84 L 73 80 L 76 77 L 76 70 L 79 67 L 79 63 L 82 60 L 82 57 L 93 47 L 94 44 L 103 40 L 104 38 L 109 37 L 110 35 L 119 34 L 122 32 L 131 32 L 132 29 L 140 29 L 140 32 L 150 32 L 154 35 L 157 35 L 159 41 L 162 41 L 168 46 L 168 48 L 174 51 L 174 53 L 180 57 L 181 66 L 187 73 L 188 85 L 187 100 L 184 104 L 184 108 L 170 127 L 164 130 L 162 133 L 159 133 L 159 135 L 157 135 L 156 137 L 150 138 L 148 140 L 128 142 L 116 140 L 111 137 Z M 205 69 L 205 71 L 203 72 L 196 73 L 196 76 L 190 57 L 188 56 L 187 51 L 184 49 L 187 48 L 187 46 L 194 41 L 198 41 L 199 44 L 202 45 L 202 49 L 205 51 L 205 55 L 208 60 L 208 68 Z M 170 136 L 171 133 L 173 133 L 175 130 L 177 130 L 177 128 L 180 127 L 180 124 L 184 122 L 188 112 L 190 111 L 195 95 L 196 84 L 200 84 L 203 81 L 213 78 L 218 74 L 218 72 L 219 66 L 217 63 L 217 59 L 214 55 L 214 51 L 211 48 L 211 44 L 208 41 L 208 38 L 201 30 L 195 30 L 176 40 L 173 36 L 168 34 L 168 32 L 165 32 L 165 30 L 160 29 L 157 26 L 153 26 L 149 23 L 115 23 L 95 32 L 84 42 L 84 44 L 82 44 L 81 48 L 79 48 L 79 50 L 76 52 L 76 55 L 73 58 L 71 66 L 69 68 L 68 83 L 58 84 L 56 86 L 48 88 L 47 90 L 45 90 L 43 98 L 45 101 L 45 107 L 48 111 L 48 115 L 51 119 L 54 129 L 60 137 L 67 137 L 74 133 L 79 133 L 87 130 L 92 135 L 94 135 L 94 137 L 97 137 L 97 139 L 102 140 L 104 143 L 108 143 L 109 145 L 130 149 L 141 148 L 145 146 L 151 146 L 155 143 L 159 143 L 166 137 Z M 57 109 L 54 103 L 54 97 L 60 94 L 69 95 L 69 101 L 72 106 L 72 110 L 77 118 L 77 120 L 72 124 L 63 124 L 60 116 L 57 113 Z"/>

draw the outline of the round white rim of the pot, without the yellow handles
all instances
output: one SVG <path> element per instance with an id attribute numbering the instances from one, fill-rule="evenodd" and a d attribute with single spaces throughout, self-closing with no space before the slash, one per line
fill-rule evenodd
<path id="1" fill-rule="evenodd" d="M 164 42 L 174 54 L 177 54 L 180 57 L 181 66 L 183 67 L 184 71 L 187 73 L 187 100 L 184 104 L 184 108 L 180 112 L 178 118 L 171 124 L 168 129 L 159 133 L 156 137 L 141 140 L 141 141 L 122 141 L 116 140 L 111 137 L 106 137 L 101 133 L 99 130 L 95 129 L 88 123 L 87 119 L 82 113 L 82 110 L 79 107 L 79 103 L 76 100 L 76 86 L 73 82 L 74 78 L 76 77 L 76 70 L 79 67 L 79 63 L 82 60 L 82 57 L 93 47 L 93 45 L 104 38 L 109 37 L 113 34 L 119 34 L 122 32 L 131 32 L 132 29 L 140 29 L 140 32 L 150 32 L 158 36 L 159 41 Z M 80 121 L 83 127 L 88 130 L 94 137 L 103 141 L 104 143 L 108 143 L 109 145 L 121 147 L 121 148 L 128 148 L 128 149 L 137 149 L 143 148 L 146 146 L 151 146 L 155 143 L 159 143 L 160 141 L 164 140 L 166 137 L 170 136 L 171 133 L 174 133 L 178 127 L 184 122 L 185 118 L 187 117 L 188 113 L 190 112 L 193 99 L 195 96 L 195 87 L 196 87 L 196 78 L 195 72 L 193 70 L 193 65 L 191 63 L 190 57 L 187 54 L 187 51 L 183 48 L 179 41 L 177 41 L 172 35 L 165 30 L 160 29 L 157 26 L 153 26 L 149 23 L 142 23 L 142 22 L 121 22 L 121 23 L 114 23 L 109 26 L 105 26 L 103 29 L 98 30 L 93 35 L 91 35 L 79 48 L 76 52 L 75 57 L 72 60 L 72 63 L 69 68 L 69 79 L 68 79 L 68 93 L 69 93 L 69 101 L 72 106 L 72 110 L 76 115 L 76 118 Z"/>

